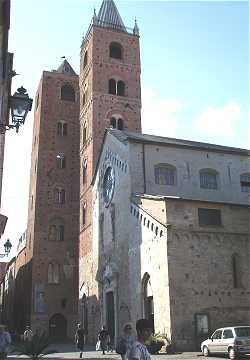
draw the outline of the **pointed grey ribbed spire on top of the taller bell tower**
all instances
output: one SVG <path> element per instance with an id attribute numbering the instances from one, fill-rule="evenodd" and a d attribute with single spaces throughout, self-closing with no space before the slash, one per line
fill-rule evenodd
<path id="1" fill-rule="evenodd" d="M 113 0 L 103 0 L 97 16 L 97 24 L 126 32 L 122 18 Z"/>

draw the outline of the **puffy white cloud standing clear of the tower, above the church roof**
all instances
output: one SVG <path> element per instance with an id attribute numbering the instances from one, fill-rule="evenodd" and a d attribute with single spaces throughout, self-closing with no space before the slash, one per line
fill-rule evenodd
<path id="1" fill-rule="evenodd" d="M 195 120 L 194 128 L 210 135 L 232 135 L 240 115 L 241 108 L 236 102 L 223 107 L 208 106 Z"/>

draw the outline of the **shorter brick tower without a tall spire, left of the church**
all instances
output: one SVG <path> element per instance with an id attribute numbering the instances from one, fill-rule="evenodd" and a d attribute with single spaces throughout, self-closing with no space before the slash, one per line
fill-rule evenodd
<path id="1" fill-rule="evenodd" d="M 79 77 L 64 60 L 36 94 L 22 321 L 52 341 L 73 338 L 78 317 L 79 130 Z"/>

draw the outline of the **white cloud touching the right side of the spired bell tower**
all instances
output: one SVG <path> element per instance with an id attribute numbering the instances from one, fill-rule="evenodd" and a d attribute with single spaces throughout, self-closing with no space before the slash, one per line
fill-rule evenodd
<path id="1" fill-rule="evenodd" d="M 176 112 L 181 107 L 177 99 L 159 99 L 150 88 L 142 89 L 142 132 L 161 136 L 176 136 Z"/>

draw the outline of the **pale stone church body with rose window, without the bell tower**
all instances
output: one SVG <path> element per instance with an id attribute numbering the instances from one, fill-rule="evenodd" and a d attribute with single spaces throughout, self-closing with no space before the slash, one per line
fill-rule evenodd
<path id="1" fill-rule="evenodd" d="M 249 152 L 161 139 L 106 132 L 93 188 L 92 289 L 114 339 L 145 316 L 192 350 L 215 328 L 250 321 L 249 193 L 240 181 Z M 158 164 L 175 166 L 175 184 L 159 188 Z M 217 170 L 217 189 L 201 187 L 201 169 Z M 219 211 L 221 221 L 204 224 L 200 209 Z"/>

